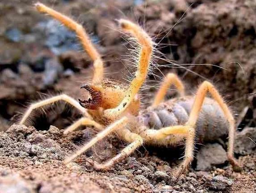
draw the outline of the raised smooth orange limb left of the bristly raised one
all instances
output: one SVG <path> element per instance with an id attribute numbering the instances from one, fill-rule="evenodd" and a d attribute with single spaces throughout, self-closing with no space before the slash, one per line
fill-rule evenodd
<path id="1" fill-rule="evenodd" d="M 65 25 L 69 29 L 76 32 L 77 37 L 80 39 L 82 46 L 84 47 L 84 50 L 86 50 L 86 52 L 94 62 L 93 63 L 94 75 L 93 75 L 92 81 L 93 82 L 101 81 L 103 78 L 103 72 L 104 72 L 103 61 L 101 59 L 101 55 L 97 52 L 95 47 L 92 45 L 92 42 L 90 41 L 88 35 L 86 34 L 83 26 L 78 24 L 76 21 L 72 20 L 71 18 L 55 11 L 52 8 L 47 7 L 42 3 L 36 3 L 35 7 L 39 12 L 49 14 L 51 17 L 63 23 L 63 25 Z"/>

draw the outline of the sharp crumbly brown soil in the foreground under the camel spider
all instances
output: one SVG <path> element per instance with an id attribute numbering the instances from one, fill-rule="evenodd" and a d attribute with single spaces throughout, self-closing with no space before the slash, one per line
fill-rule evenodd
<path id="1" fill-rule="evenodd" d="M 249 132 L 251 128 L 246 128 Z M 94 171 L 88 157 L 104 161 L 122 146 L 111 138 L 98 143 L 86 155 L 67 166 L 62 160 L 83 141 L 91 138 L 88 130 L 63 134 L 55 126 L 38 131 L 33 126 L 14 124 L 0 135 L 0 188 L 13 192 L 252 192 L 256 191 L 254 153 L 244 152 L 246 144 L 236 148 L 242 155 L 243 172 L 233 172 L 227 165 L 224 149 L 218 143 L 206 144 L 197 154 L 196 168 L 176 180 L 172 176 L 177 161 L 159 158 L 157 150 L 126 158 L 109 172 Z M 252 133 L 250 133 L 252 134 Z M 255 133 L 254 133 L 255 136 Z M 238 141 L 238 140 L 237 140 Z M 236 142 L 236 147 L 239 145 Z M 254 149 L 255 145 L 250 148 Z M 250 151 L 248 150 L 248 151 Z M 161 151 L 161 150 L 160 150 Z M 165 150 L 166 151 L 166 150 Z M 170 152 L 173 152 L 169 149 Z M 179 155 L 173 159 L 177 160 Z M 206 172 L 204 170 L 210 170 Z"/>

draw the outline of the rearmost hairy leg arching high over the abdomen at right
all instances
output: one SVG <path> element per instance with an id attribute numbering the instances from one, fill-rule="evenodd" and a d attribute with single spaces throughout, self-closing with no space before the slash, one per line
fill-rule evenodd
<path id="1" fill-rule="evenodd" d="M 197 90 L 197 94 L 189 115 L 189 120 L 187 122 L 188 126 L 194 127 L 198 115 L 200 113 L 203 101 L 205 99 L 206 93 L 210 92 L 211 96 L 214 98 L 215 101 L 217 101 L 218 105 L 221 107 L 225 117 L 227 118 L 227 121 L 229 122 L 229 133 L 228 133 L 228 152 L 227 152 L 227 157 L 229 162 L 232 164 L 234 170 L 239 171 L 241 170 L 239 164 L 236 162 L 234 158 L 234 138 L 235 138 L 235 120 L 234 117 L 232 116 L 232 113 L 228 109 L 226 103 L 222 99 L 222 96 L 218 93 L 218 90 L 214 88 L 214 85 L 212 85 L 208 81 L 204 81 L 200 87 Z"/>

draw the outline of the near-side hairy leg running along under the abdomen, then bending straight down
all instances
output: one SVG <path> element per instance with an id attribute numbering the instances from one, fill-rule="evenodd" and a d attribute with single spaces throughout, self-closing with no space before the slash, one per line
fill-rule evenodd
<path id="1" fill-rule="evenodd" d="M 182 134 L 186 138 L 184 159 L 175 175 L 179 177 L 193 160 L 195 129 L 192 126 L 169 126 L 160 130 L 147 130 L 148 140 L 159 140 L 170 134 Z"/>

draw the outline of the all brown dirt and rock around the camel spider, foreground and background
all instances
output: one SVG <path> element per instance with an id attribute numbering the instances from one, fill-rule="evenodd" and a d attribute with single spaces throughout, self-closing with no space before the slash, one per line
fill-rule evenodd
<path id="1" fill-rule="evenodd" d="M 160 71 L 175 72 L 193 94 L 210 80 L 237 122 L 235 156 L 242 172 L 227 162 L 227 138 L 197 145 L 189 172 L 172 174 L 183 147 L 142 147 L 108 172 L 94 171 L 86 160 L 105 161 L 127 144 L 110 136 L 76 162 L 63 159 L 96 131 L 63 129 L 81 117 L 63 104 L 31 115 L 17 125 L 29 103 L 63 92 L 76 100 L 80 85 L 91 78 L 92 63 L 76 35 L 39 14 L 31 0 L 0 2 L 0 193 L 256 192 L 256 2 L 253 0 L 41 0 L 84 25 L 105 61 L 106 76 L 124 81 L 129 44 L 115 19 L 129 18 L 145 27 L 158 45 Z M 125 59 L 125 60 L 121 60 Z M 175 61 L 175 62 L 174 62 Z M 210 65 L 211 64 L 211 65 Z M 123 73 L 122 73 L 123 72 Z M 159 71 L 155 75 L 161 76 Z M 159 78 L 149 76 L 151 102 Z M 175 96 L 168 92 L 168 98 Z M 31 125 L 31 126 L 29 126 Z M 167 153 L 168 152 L 168 153 Z"/>

